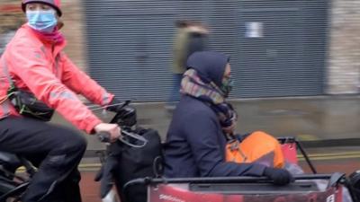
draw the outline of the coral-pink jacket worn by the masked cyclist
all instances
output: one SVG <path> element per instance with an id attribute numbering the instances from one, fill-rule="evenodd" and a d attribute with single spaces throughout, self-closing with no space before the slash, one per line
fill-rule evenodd
<path id="1" fill-rule="evenodd" d="M 62 52 L 66 41 L 53 45 L 41 40 L 28 25 L 16 32 L 0 58 L 0 118 L 20 116 L 9 101 L 4 101 L 10 86 L 6 69 L 16 87 L 32 92 L 37 99 L 58 111 L 79 129 L 91 133 L 101 123 L 80 101 L 106 105 L 113 95 L 80 71 Z"/>

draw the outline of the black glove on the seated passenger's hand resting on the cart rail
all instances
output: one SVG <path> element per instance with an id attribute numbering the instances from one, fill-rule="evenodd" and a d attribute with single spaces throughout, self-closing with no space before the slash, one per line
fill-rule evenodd
<path id="1" fill-rule="evenodd" d="M 293 181 L 293 175 L 284 169 L 266 167 L 264 175 L 273 180 L 275 185 L 286 185 Z"/>

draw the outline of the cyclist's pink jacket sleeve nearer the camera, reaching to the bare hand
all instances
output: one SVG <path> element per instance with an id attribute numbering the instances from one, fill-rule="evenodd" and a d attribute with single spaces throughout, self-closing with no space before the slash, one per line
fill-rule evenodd
<path id="1" fill-rule="evenodd" d="M 102 123 L 76 94 L 49 70 L 47 66 L 51 64 L 40 49 L 17 44 L 11 48 L 7 57 L 11 63 L 11 73 L 21 79 L 37 99 L 57 110 L 73 125 L 91 133 L 97 124 Z"/>

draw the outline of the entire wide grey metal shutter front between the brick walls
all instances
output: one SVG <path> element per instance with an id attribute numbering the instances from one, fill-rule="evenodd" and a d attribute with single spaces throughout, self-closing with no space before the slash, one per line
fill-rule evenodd
<path id="1" fill-rule="evenodd" d="M 122 99 L 166 101 L 177 19 L 205 22 L 228 54 L 232 98 L 324 92 L 325 0 L 86 0 L 89 72 Z M 249 38 L 252 25 L 261 37 Z M 256 34 L 257 35 L 257 34 Z"/>

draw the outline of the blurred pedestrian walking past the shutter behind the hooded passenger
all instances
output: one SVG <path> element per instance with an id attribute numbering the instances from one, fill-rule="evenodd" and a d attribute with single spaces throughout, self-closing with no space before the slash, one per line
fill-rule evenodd
<path id="1" fill-rule="evenodd" d="M 196 51 L 207 49 L 208 29 L 201 22 L 176 21 L 177 28 L 174 40 L 173 55 L 173 88 L 167 110 L 174 110 L 180 99 L 180 83 L 186 70 L 187 57 Z"/>

